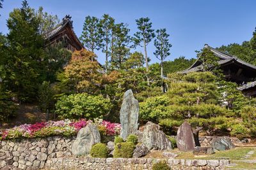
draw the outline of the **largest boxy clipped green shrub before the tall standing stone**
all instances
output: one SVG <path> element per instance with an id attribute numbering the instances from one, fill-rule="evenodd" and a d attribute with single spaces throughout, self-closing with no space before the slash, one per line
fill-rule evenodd
<path id="1" fill-rule="evenodd" d="M 122 142 L 115 145 L 114 158 L 131 158 L 135 145 L 131 142 Z"/>

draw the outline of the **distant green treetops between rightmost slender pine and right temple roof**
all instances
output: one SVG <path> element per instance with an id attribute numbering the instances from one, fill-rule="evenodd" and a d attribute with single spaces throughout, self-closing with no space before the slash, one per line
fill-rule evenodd
<path id="1" fill-rule="evenodd" d="M 195 61 L 196 59 L 186 59 L 184 56 L 180 56 L 179 58 L 176 58 L 172 61 L 164 61 L 163 74 L 167 76 L 167 74 L 188 69 Z"/>

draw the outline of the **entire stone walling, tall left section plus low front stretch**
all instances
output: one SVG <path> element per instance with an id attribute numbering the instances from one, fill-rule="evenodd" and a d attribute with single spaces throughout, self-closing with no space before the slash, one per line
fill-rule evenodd
<path id="1" fill-rule="evenodd" d="M 222 169 L 228 164 L 228 160 L 75 158 L 71 153 L 75 138 L 0 141 L 0 169 L 152 169 L 160 160 L 166 160 L 173 169 Z"/>

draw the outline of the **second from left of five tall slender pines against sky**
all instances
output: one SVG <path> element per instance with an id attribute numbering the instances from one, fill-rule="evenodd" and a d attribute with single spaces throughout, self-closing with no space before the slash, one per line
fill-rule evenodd
<path id="1" fill-rule="evenodd" d="M 102 52 L 106 54 L 106 73 L 108 73 L 108 57 L 109 57 L 109 43 L 111 43 L 111 30 L 115 24 L 115 19 L 108 14 L 104 14 L 100 20 L 100 32 L 103 37 Z"/>

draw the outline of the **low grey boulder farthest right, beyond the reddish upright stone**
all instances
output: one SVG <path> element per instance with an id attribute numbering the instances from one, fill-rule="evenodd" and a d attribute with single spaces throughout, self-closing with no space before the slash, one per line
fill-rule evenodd
<path id="1" fill-rule="evenodd" d="M 228 137 L 220 137 L 212 139 L 212 148 L 214 150 L 230 150 L 236 146 L 231 142 Z"/>

